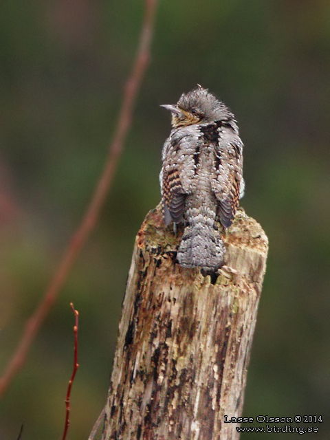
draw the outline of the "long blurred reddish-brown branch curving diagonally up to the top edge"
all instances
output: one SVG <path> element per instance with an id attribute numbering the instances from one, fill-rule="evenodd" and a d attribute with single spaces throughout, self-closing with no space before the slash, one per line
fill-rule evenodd
<path id="1" fill-rule="evenodd" d="M 52 278 L 52 281 L 45 292 L 45 296 L 43 296 L 41 303 L 39 303 L 39 306 L 34 311 L 34 314 L 32 314 L 26 323 L 25 330 L 17 349 L 5 368 L 3 376 L 0 379 L 0 397 L 5 393 L 14 376 L 23 367 L 23 364 L 25 364 L 25 360 L 32 342 L 36 337 L 36 333 L 38 333 L 43 321 L 56 301 L 58 293 L 63 287 L 69 271 L 76 261 L 81 248 L 83 248 L 83 245 L 85 244 L 91 230 L 93 230 L 94 226 L 96 225 L 96 221 L 100 215 L 100 210 L 104 204 L 104 200 L 109 193 L 111 184 L 113 182 L 113 177 L 115 175 L 115 170 L 118 167 L 120 155 L 122 154 L 124 140 L 126 139 L 129 126 L 131 125 L 135 98 L 140 89 L 140 85 L 150 59 L 150 47 L 155 23 L 156 8 L 157 0 L 145 1 L 145 13 L 140 34 L 140 44 L 137 49 L 137 56 L 135 58 L 131 76 L 129 76 L 129 79 L 124 87 L 124 96 L 122 99 L 122 108 L 120 110 L 118 125 L 113 137 L 113 141 L 109 145 L 109 153 L 103 173 L 100 176 L 96 186 L 94 196 L 87 207 L 85 216 L 78 226 L 76 233 L 69 242 L 68 248 L 58 265 L 58 269 L 56 270 L 54 277 Z"/>

